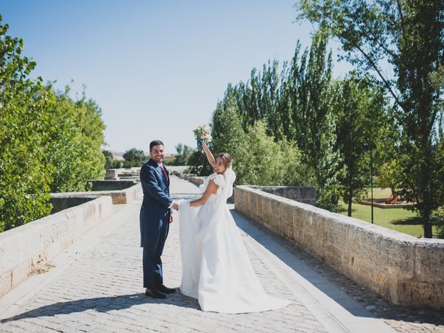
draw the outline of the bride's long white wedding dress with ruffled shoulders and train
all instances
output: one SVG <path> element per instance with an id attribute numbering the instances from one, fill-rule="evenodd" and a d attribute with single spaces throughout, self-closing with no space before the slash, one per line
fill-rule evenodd
<path id="1" fill-rule="evenodd" d="M 180 202 L 180 291 L 198 299 L 203 311 L 239 314 L 286 307 L 289 300 L 268 296 L 262 289 L 228 210 L 234 171 L 213 173 L 200 185 L 201 191 L 212 179 L 219 188 L 204 205 L 190 207 L 190 200 Z"/>

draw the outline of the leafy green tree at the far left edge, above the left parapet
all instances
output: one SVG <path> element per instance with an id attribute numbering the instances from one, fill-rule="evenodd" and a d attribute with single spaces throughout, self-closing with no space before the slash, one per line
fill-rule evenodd
<path id="1" fill-rule="evenodd" d="M 49 214 L 53 171 L 44 146 L 52 97 L 34 98 L 42 81 L 28 77 L 35 62 L 22 56 L 23 40 L 7 32 L 0 15 L 0 231 Z"/>

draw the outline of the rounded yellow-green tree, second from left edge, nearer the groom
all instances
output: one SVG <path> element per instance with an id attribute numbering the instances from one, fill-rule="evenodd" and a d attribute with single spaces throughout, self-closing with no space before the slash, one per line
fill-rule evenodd
<path id="1" fill-rule="evenodd" d="M 55 167 L 51 191 L 85 191 L 87 180 L 104 176 L 101 109 L 85 95 L 73 101 L 67 87 L 65 92 L 56 93 L 49 113 L 53 125 L 46 154 L 47 162 Z"/>

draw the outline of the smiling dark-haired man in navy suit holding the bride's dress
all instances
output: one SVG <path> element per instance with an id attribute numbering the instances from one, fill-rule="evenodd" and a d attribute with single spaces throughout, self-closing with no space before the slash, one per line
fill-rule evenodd
<path id="1" fill-rule="evenodd" d="M 150 157 L 140 169 L 140 182 L 144 191 L 140 208 L 144 288 L 146 296 L 165 298 L 166 293 L 174 293 L 176 289 L 167 288 L 163 284 L 160 256 L 164 250 L 169 223 L 173 221 L 172 208 L 178 210 L 178 204 L 169 196 L 169 176 L 162 164 L 164 144 L 160 140 L 150 143 Z"/>

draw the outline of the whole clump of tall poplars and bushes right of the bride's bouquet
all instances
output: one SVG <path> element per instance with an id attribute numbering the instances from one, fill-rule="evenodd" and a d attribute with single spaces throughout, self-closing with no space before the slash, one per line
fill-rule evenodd
<path id="1" fill-rule="evenodd" d="M 280 73 L 278 62 L 268 61 L 262 71 L 251 71 L 248 83 L 228 85 L 223 101 L 218 103 L 213 114 L 213 137 L 215 151 L 230 154 L 239 151 L 240 160 L 234 158 L 239 182 L 276 185 L 284 183 L 282 179 L 286 178 L 287 183 L 313 185 L 318 188 L 318 205 L 336 210 L 340 156 L 334 146 L 332 60 L 326 46 L 327 39 L 318 33 L 310 51 L 305 51 L 302 58 L 299 58 L 300 44 L 296 45 L 291 64 L 285 62 Z M 266 137 L 261 136 L 259 128 L 262 125 L 255 127 L 259 121 L 265 124 Z M 248 141 L 252 137 L 258 142 Z M 246 142 L 253 146 L 245 146 Z M 268 157 L 264 151 L 269 148 L 265 147 L 274 148 L 275 144 L 280 150 Z M 251 162 L 247 160 L 248 150 L 257 154 L 258 146 L 262 149 L 261 161 L 268 161 L 269 169 L 282 171 L 279 154 L 298 156 L 294 163 L 288 161 L 286 164 L 286 173 L 291 176 L 283 178 L 279 176 L 280 171 L 268 173 L 267 167 L 252 171 Z M 286 151 L 287 147 L 291 148 Z M 256 158 L 259 157 L 256 155 Z M 300 174 L 304 174 L 303 180 Z M 257 180 L 252 175 L 257 175 Z"/>

